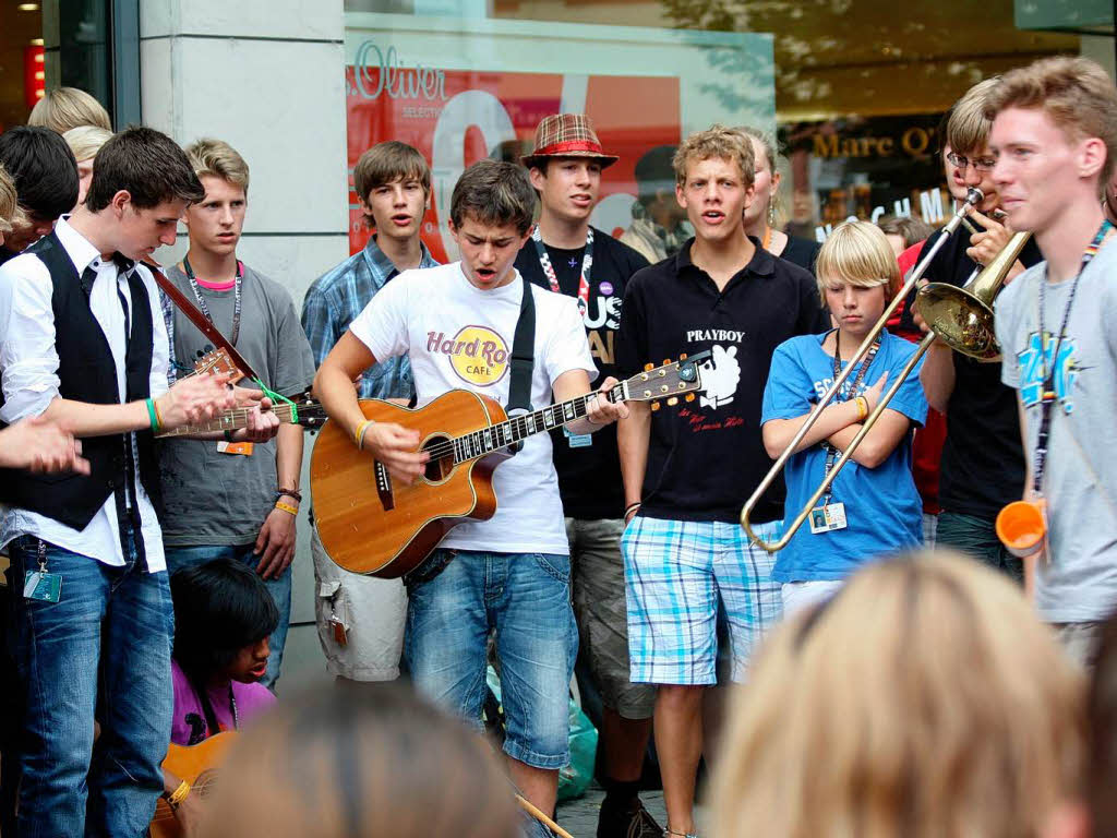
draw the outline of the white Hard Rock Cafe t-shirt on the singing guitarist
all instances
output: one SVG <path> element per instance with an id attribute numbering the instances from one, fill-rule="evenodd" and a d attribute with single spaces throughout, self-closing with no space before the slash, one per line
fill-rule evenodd
<path id="1" fill-rule="evenodd" d="M 552 401 L 555 379 L 570 370 L 598 374 L 585 326 L 572 297 L 528 285 L 535 295 L 535 368 L 532 407 Z M 388 283 L 350 324 L 378 361 L 408 354 L 422 407 L 448 390 L 471 390 L 508 401 L 512 341 L 524 280 L 481 291 L 460 263 L 405 270 Z M 496 553 L 570 550 L 563 523 L 551 437 L 528 437 L 515 457 L 497 466 L 497 511 L 488 521 L 459 524 L 441 546 Z"/>

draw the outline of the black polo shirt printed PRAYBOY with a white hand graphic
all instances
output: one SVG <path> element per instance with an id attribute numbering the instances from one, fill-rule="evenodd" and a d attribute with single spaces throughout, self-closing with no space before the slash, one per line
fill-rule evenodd
<path id="1" fill-rule="evenodd" d="M 677 521 L 738 521 L 772 460 L 761 440 L 761 401 L 775 347 L 830 326 L 810 273 L 762 249 L 718 292 L 690 261 L 690 239 L 672 258 L 629 282 L 617 355 L 623 375 L 646 363 L 710 350 L 703 391 L 651 415 L 640 514 Z M 783 517 L 783 484 L 754 521 Z"/>

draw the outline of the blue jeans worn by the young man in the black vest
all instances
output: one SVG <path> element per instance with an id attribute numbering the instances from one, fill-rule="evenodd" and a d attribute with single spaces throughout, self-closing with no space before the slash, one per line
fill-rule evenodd
<path id="1" fill-rule="evenodd" d="M 46 545 L 58 602 L 22 596 L 38 539 L 11 543 L 12 651 L 26 694 L 19 835 L 145 835 L 163 790 L 171 736 L 174 611 L 165 572 Z M 93 722 L 101 739 L 93 747 Z M 90 764 L 92 754 L 92 764 Z"/>

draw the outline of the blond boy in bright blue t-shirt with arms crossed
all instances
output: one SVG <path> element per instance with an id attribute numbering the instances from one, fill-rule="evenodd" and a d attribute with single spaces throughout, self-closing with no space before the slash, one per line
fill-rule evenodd
<path id="1" fill-rule="evenodd" d="M 815 269 L 819 293 L 838 326 L 792 337 L 772 356 L 761 422 L 773 459 L 792 442 L 842 368 L 858 365 L 787 460 L 785 522 L 809 503 L 839 451 L 867 423 L 888 380 L 901 375 L 916 352 L 908 341 L 880 330 L 863 360 L 853 359 L 900 285 L 899 266 L 879 228 L 868 221 L 841 225 L 822 245 Z M 811 510 L 809 528 L 800 527 L 779 552 L 772 575 L 783 585 L 784 616 L 831 596 L 866 560 L 918 546 L 923 512 L 911 476 L 910 431 L 926 415 L 927 401 L 913 371 L 857 446 L 853 464 Z"/>

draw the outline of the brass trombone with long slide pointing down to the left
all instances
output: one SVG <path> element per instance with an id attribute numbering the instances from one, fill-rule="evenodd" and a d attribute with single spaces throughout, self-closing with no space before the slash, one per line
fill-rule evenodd
<path id="1" fill-rule="evenodd" d="M 982 201 L 984 194 L 980 189 L 971 188 L 966 192 L 966 199 L 963 201 L 962 206 L 958 207 L 957 211 L 954 213 L 953 218 L 947 222 L 946 227 L 943 228 L 943 235 L 938 237 L 935 244 L 932 246 L 930 250 L 926 256 L 916 265 L 915 270 L 911 272 L 910 277 L 900 288 L 899 293 L 892 298 L 891 303 L 886 306 L 884 313 L 880 315 L 880 320 L 877 321 L 872 330 L 866 335 L 861 345 L 858 347 L 857 352 L 853 353 L 853 358 L 842 370 L 841 374 L 834 380 L 830 385 L 830 389 L 819 399 L 818 404 L 811 410 L 810 416 L 803 422 L 803 426 L 795 434 L 794 438 L 787 445 L 787 447 L 773 464 L 772 468 L 768 470 L 764 479 L 761 480 L 756 491 L 753 492 L 752 496 L 745 503 L 744 508 L 741 511 L 741 525 L 748 533 L 748 537 L 754 544 L 761 549 L 767 551 L 768 553 L 775 553 L 787 545 L 792 536 L 799 531 L 799 527 L 803 525 L 806 521 L 808 515 L 810 515 L 811 510 L 815 507 L 822 496 L 827 493 L 830 486 L 833 484 L 834 479 L 838 477 L 838 473 L 842 467 L 849 461 L 850 457 L 857 450 L 857 447 L 865 439 L 866 435 L 876 425 L 877 419 L 888 407 L 888 402 L 892 400 L 896 392 L 904 384 L 904 381 L 911 371 L 919 363 L 919 359 L 923 358 L 924 353 L 930 347 L 930 344 L 939 339 L 946 343 L 951 349 L 962 352 L 980 360 L 994 360 L 1000 355 L 1000 347 L 996 345 L 996 337 L 993 332 L 993 310 L 992 302 L 993 297 L 996 296 L 997 292 L 1001 289 L 1001 285 L 1004 283 L 1004 277 L 1012 267 L 1012 264 L 1016 260 L 1016 256 L 1023 248 L 1028 240 L 1029 234 L 1018 232 L 1013 235 L 1012 239 L 1005 245 L 1004 249 L 996 256 L 993 263 L 984 268 L 981 274 L 966 286 L 965 289 L 957 288 L 948 283 L 930 283 L 920 289 L 918 295 L 919 311 L 923 314 L 924 321 L 930 326 L 930 331 L 919 343 L 918 349 L 915 354 L 911 355 L 910 360 L 905 364 L 900 374 L 896 377 L 896 380 L 891 382 L 888 390 L 880 397 L 877 406 L 872 409 L 872 412 L 865 419 L 861 425 L 861 429 L 853 437 L 852 441 L 842 451 L 841 457 L 834 464 L 833 468 L 830 469 L 830 474 L 825 476 L 825 479 L 819 485 L 818 489 L 806 502 L 799 514 L 795 516 L 794 521 L 790 525 L 784 527 L 783 535 L 776 541 L 764 541 L 760 537 L 752 527 L 750 522 L 750 515 L 752 515 L 753 510 L 756 504 L 760 503 L 761 497 L 768 489 L 772 483 L 775 480 L 776 476 L 783 470 L 784 465 L 791 457 L 795 448 L 802 441 L 803 437 L 810 431 L 810 429 L 818 421 L 819 415 L 825 409 L 825 407 L 833 400 L 841 388 L 844 385 L 846 381 L 852 374 L 857 364 L 865 360 L 872 346 L 873 342 L 877 340 L 877 335 L 885 328 L 885 324 L 891 316 L 892 312 L 899 306 L 900 301 L 906 299 L 907 295 L 911 292 L 911 288 L 916 286 L 916 283 L 927 273 L 927 267 L 930 261 L 938 254 L 943 245 L 946 244 L 947 238 L 949 238 L 958 226 L 963 222 L 966 216 L 966 209 L 976 206 Z"/>

